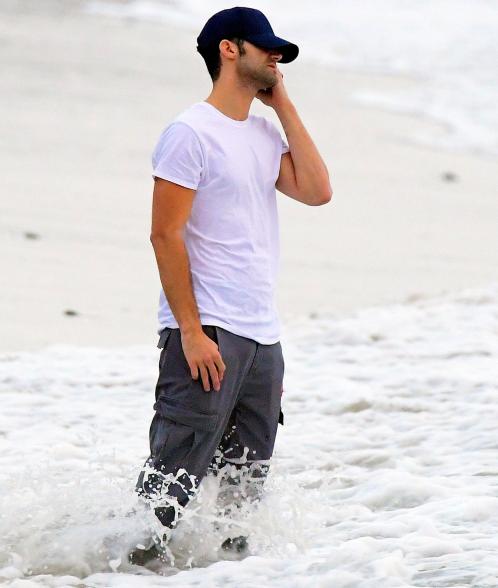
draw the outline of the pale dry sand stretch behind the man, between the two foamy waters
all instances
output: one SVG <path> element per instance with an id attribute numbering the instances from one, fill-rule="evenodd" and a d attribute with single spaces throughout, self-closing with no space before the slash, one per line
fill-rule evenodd
<path id="1" fill-rule="evenodd" d="M 2 3 L 1 350 L 156 339 L 150 154 L 211 82 L 189 34 L 83 4 Z M 316 208 L 278 194 L 286 324 L 497 279 L 496 163 L 414 144 L 438 123 L 351 98 L 416 80 L 282 71 L 334 189 Z"/>

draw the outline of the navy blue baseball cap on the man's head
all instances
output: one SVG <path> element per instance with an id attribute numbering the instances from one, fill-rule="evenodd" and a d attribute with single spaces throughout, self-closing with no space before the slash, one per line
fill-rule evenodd
<path id="1" fill-rule="evenodd" d="M 239 37 L 263 49 L 278 49 L 282 54 L 279 63 L 294 61 L 299 47 L 290 41 L 277 37 L 266 16 L 256 8 L 234 6 L 220 10 L 206 22 L 197 37 L 197 51 L 217 47 L 222 39 Z"/>

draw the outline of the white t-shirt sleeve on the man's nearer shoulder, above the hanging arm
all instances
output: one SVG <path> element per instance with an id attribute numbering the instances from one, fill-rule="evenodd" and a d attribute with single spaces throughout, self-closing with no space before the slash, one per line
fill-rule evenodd
<path id="1" fill-rule="evenodd" d="M 202 147 L 196 132 L 180 121 L 168 125 L 152 154 L 152 177 L 197 190 L 203 167 Z"/>

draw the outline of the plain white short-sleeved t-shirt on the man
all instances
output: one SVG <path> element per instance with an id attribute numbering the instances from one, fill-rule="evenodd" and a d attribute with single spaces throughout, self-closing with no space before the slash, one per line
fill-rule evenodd
<path id="1" fill-rule="evenodd" d="M 276 343 L 279 228 L 275 192 L 289 146 L 268 119 L 235 120 L 197 102 L 161 133 L 152 176 L 196 190 L 185 225 L 201 324 Z M 159 328 L 179 325 L 161 288 Z"/>

